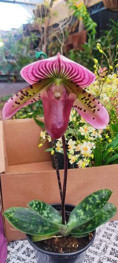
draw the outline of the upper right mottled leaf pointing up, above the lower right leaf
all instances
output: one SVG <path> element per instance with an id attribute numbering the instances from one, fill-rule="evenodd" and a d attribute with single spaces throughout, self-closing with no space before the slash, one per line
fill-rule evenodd
<path id="1" fill-rule="evenodd" d="M 70 213 L 67 227 L 71 229 L 79 226 L 97 215 L 107 203 L 111 193 L 108 189 L 102 189 L 83 199 Z"/>

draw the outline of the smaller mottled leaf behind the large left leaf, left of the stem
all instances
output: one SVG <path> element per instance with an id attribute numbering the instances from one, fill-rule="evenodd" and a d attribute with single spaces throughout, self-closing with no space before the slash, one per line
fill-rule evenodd
<path id="1" fill-rule="evenodd" d="M 42 218 L 56 224 L 62 224 L 60 213 L 51 205 L 37 200 L 30 201 L 27 205 L 36 211 Z"/>

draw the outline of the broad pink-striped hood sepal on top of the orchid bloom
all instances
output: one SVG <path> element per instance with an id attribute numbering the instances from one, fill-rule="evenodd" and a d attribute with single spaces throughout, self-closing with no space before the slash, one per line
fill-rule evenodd
<path id="1" fill-rule="evenodd" d="M 95 80 L 91 71 L 59 53 L 25 66 L 20 74 L 30 84 L 45 78 L 58 78 L 71 80 L 83 88 Z"/>

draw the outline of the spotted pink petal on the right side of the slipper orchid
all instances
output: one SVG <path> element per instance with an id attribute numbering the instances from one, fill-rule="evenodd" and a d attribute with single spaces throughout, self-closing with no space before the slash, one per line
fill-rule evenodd
<path id="1" fill-rule="evenodd" d="M 105 107 L 95 97 L 75 83 L 65 80 L 64 83 L 66 83 L 66 87 L 71 89 L 71 92 L 76 94 L 73 104 L 75 110 L 94 128 L 106 128 L 109 116 Z"/>

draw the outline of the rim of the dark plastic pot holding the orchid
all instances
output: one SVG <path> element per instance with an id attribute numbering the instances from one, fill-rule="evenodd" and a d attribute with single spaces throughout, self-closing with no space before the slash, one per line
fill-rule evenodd
<path id="1" fill-rule="evenodd" d="M 60 203 L 53 203 L 53 204 L 51 204 L 51 205 L 60 205 Z M 72 205 L 72 204 L 65 204 L 65 209 L 66 209 L 66 206 L 70 206 L 70 207 L 75 207 L 75 205 Z M 75 251 L 75 252 L 68 252 L 68 253 L 57 253 L 57 252 L 50 252 L 50 251 L 46 251 L 46 250 L 44 250 L 44 249 L 42 249 L 42 248 L 40 248 L 40 247 L 38 247 L 34 242 L 32 242 L 31 241 L 31 239 L 30 239 L 30 235 L 29 234 L 26 234 L 26 238 L 27 238 L 27 240 L 28 240 L 28 242 L 30 243 L 30 245 L 34 248 L 34 249 L 36 249 L 36 250 L 38 250 L 39 252 L 41 252 L 41 253 L 43 253 L 43 254 L 47 254 L 47 255 L 50 255 L 51 257 L 74 257 L 74 256 L 76 256 L 76 255 L 78 255 L 78 254 L 81 254 L 82 252 L 84 252 L 85 250 L 87 250 L 87 248 L 92 244 L 92 242 L 94 241 L 94 238 L 95 238 L 95 234 L 96 234 L 96 230 L 93 230 L 92 231 L 92 234 L 93 234 L 93 237 L 92 237 L 92 239 L 89 241 L 89 243 L 86 245 L 86 246 L 84 246 L 83 248 L 81 248 L 80 250 L 77 250 L 77 251 Z"/>

